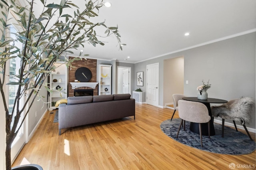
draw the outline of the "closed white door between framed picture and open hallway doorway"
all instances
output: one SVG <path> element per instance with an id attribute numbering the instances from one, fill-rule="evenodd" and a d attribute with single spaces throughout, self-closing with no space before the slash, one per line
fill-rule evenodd
<path id="1" fill-rule="evenodd" d="M 159 63 L 147 65 L 147 104 L 158 107 L 159 99 Z"/>

